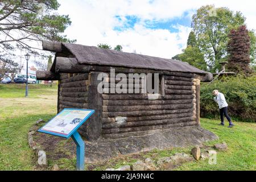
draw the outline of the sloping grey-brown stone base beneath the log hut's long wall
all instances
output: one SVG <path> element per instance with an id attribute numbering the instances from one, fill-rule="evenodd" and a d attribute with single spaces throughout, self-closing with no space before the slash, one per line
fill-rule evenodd
<path id="1" fill-rule="evenodd" d="M 138 134 L 138 133 L 137 133 Z M 141 136 L 118 139 L 98 139 L 85 141 L 85 163 L 94 163 L 119 155 L 136 154 L 155 148 L 163 150 L 171 147 L 201 146 L 203 142 L 218 137 L 200 126 L 180 127 L 166 130 L 151 130 Z"/>

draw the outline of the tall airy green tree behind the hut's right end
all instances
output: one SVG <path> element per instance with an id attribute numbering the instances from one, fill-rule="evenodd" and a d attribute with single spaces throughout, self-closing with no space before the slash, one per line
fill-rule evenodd
<path id="1" fill-rule="evenodd" d="M 227 59 L 228 34 L 233 28 L 245 24 L 245 19 L 239 11 L 234 13 L 226 7 L 215 8 L 214 5 L 202 6 L 192 16 L 191 27 L 211 71 L 220 67 L 220 61 Z M 252 31 L 250 35 L 251 39 L 255 38 Z M 255 55 L 255 46 L 251 48 L 251 54 Z"/>

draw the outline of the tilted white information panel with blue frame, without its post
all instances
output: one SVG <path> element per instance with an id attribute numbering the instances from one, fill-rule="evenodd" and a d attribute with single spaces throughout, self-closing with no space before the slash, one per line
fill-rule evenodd
<path id="1" fill-rule="evenodd" d="M 90 109 L 63 109 L 38 131 L 69 138 L 94 113 Z"/>

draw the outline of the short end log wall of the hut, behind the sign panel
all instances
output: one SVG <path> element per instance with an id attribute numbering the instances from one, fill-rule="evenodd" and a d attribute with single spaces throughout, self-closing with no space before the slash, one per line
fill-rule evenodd
<path id="1" fill-rule="evenodd" d="M 88 73 L 60 73 L 58 111 L 88 109 Z"/>

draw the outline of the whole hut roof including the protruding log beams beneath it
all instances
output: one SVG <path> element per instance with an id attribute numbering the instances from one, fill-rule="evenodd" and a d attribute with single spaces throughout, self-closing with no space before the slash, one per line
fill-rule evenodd
<path id="1" fill-rule="evenodd" d="M 43 41 L 43 49 L 56 52 L 56 56 L 49 72 L 37 72 L 39 80 L 57 80 L 59 73 L 109 72 L 112 68 L 120 73 L 161 73 L 195 77 L 201 81 L 213 79 L 212 73 L 179 60 L 50 41 Z"/>

